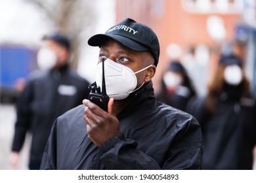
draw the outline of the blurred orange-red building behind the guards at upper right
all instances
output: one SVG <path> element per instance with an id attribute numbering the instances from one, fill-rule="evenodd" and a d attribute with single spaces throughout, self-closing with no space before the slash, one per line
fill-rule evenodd
<path id="1" fill-rule="evenodd" d="M 240 0 L 117 0 L 116 21 L 133 18 L 156 31 L 161 60 L 153 80 L 156 92 L 160 88 L 161 73 L 170 61 L 168 45 L 178 44 L 182 59 L 188 50 L 199 48 L 197 53 L 204 59 L 199 63 L 200 67 L 188 67 L 190 63 L 187 61 L 184 65 L 190 69 L 190 75 L 198 74 L 193 80 L 199 87 L 198 91 L 203 93 L 216 66 L 221 46 L 234 40 L 235 27 L 242 22 L 241 3 Z M 241 54 L 239 46 L 236 50 Z M 192 68 L 198 70 L 193 71 Z"/>

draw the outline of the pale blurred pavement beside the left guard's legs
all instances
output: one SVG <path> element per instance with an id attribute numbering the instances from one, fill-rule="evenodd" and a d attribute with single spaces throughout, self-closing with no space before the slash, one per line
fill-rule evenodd
<path id="1" fill-rule="evenodd" d="M 9 165 L 9 155 L 11 152 L 15 118 L 14 105 L 0 104 L 0 170 L 12 169 L 12 167 Z M 26 138 L 21 152 L 20 163 L 17 169 L 28 169 L 27 162 L 30 139 L 30 136 Z"/>

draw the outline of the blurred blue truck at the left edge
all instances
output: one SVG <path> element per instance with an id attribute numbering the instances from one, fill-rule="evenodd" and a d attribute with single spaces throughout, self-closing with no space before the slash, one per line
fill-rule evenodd
<path id="1" fill-rule="evenodd" d="M 28 75 L 36 68 L 35 49 L 22 45 L 0 45 L 0 102 L 14 103 Z"/>

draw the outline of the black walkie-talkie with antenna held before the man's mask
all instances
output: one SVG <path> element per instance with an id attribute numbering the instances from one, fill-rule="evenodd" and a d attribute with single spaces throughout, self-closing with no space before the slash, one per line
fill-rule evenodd
<path id="1" fill-rule="evenodd" d="M 110 97 L 106 94 L 104 58 L 102 58 L 102 91 L 100 92 L 100 86 L 90 86 L 90 88 L 91 92 L 89 93 L 89 100 L 108 112 L 108 101 L 110 100 Z"/>

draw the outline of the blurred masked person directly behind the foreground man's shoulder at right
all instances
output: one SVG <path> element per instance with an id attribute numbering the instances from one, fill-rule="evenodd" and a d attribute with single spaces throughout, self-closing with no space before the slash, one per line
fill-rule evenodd
<path id="1" fill-rule="evenodd" d="M 186 105 L 196 91 L 183 65 L 171 61 L 163 73 L 161 90 L 156 94 L 158 101 L 180 110 L 186 110 Z"/>

